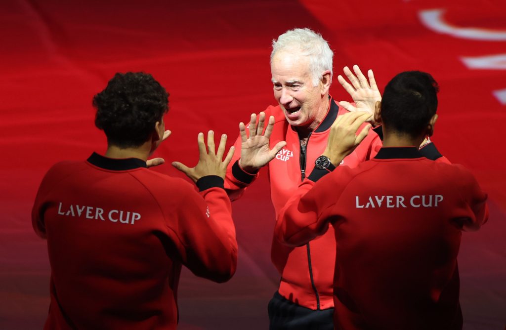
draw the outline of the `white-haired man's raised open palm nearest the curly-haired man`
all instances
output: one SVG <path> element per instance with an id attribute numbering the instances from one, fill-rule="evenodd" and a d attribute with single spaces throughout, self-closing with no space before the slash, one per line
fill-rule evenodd
<path id="1" fill-rule="evenodd" d="M 265 113 L 260 112 L 257 127 L 257 115 L 251 114 L 249 121 L 249 136 L 246 134 L 244 123 L 239 123 L 239 133 L 241 135 L 241 158 L 239 165 L 249 173 L 254 173 L 269 161 L 276 157 L 276 153 L 285 145 L 285 141 L 278 142 L 274 148 L 270 148 L 269 139 L 274 126 L 274 116 L 269 117 L 265 133 L 262 134 L 265 126 Z"/>

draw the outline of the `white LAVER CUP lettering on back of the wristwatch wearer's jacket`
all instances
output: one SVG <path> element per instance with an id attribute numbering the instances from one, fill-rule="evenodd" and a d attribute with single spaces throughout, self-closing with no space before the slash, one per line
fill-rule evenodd
<path id="1" fill-rule="evenodd" d="M 357 209 L 369 208 L 437 208 L 443 195 L 355 196 Z"/>

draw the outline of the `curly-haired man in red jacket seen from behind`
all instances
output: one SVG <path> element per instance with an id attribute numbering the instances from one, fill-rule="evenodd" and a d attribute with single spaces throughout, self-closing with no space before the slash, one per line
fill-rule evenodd
<path id="1" fill-rule="evenodd" d="M 195 168 L 174 165 L 192 185 L 147 169 L 170 131 L 168 94 L 146 73 L 117 73 L 93 99 L 105 156 L 53 166 L 32 211 L 48 240 L 51 305 L 45 329 L 175 329 L 181 266 L 213 281 L 236 269 L 237 242 L 223 190 L 226 136 L 213 132 Z M 202 198 L 203 197 L 203 198 Z"/>

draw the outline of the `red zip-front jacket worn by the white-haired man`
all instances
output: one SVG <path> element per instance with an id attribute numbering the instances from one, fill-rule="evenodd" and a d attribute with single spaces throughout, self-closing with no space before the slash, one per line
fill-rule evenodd
<path id="1" fill-rule="evenodd" d="M 275 117 L 275 124 L 270 139 L 273 146 L 279 141 L 286 141 L 286 146 L 266 166 L 271 185 L 271 198 L 278 215 L 286 201 L 297 190 L 306 173 L 311 173 L 314 162 L 327 145 L 330 126 L 336 116 L 347 112 L 332 99 L 329 110 L 320 126 L 309 137 L 305 149 L 301 148 L 300 139 L 288 122 L 279 106 L 270 106 L 265 110 L 266 117 Z M 247 132 L 247 130 L 246 130 Z M 342 166 L 356 167 L 373 157 L 381 147 L 381 140 L 372 130 L 353 153 L 344 159 Z M 231 161 L 225 179 L 225 188 L 231 199 L 238 198 L 243 190 L 258 176 L 245 173 L 238 165 L 241 139 L 235 143 L 236 152 Z M 332 277 L 335 260 L 335 239 L 326 234 L 302 247 L 287 247 L 273 239 L 271 258 L 282 275 L 279 293 L 286 299 L 311 309 L 333 307 Z"/>

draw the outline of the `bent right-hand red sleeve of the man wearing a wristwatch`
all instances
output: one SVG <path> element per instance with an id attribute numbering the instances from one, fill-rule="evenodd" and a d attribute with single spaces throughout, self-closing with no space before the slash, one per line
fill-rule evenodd
<path id="1" fill-rule="evenodd" d="M 459 164 L 453 165 L 459 176 L 456 179 L 460 204 L 454 221 L 463 230 L 475 231 L 488 220 L 487 194 L 481 190 L 475 177 Z"/>

